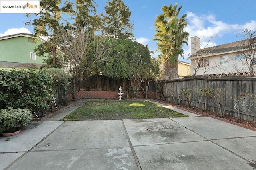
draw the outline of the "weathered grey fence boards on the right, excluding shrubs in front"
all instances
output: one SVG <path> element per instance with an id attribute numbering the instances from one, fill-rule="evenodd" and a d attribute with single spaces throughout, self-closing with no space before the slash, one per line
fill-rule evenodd
<path id="1" fill-rule="evenodd" d="M 242 93 L 248 92 L 250 95 L 256 95 L 256 77 L 255 76 L 198 76 L 198 77 L 188 77 L 184 79 L 177 79 L 172 81 L 164 82 L 164 96 L 166 100 L 178 103 L 181 96 L 181 104 L 186 104 L 186 99 L 184 94 L 181 94 L 180 90 L 191 89 L 194 92 L 194 97 L 192 99 L 191 106 L 199 107 L 204 103 L 207 104 L 207 108 L 211 111 L 217 112 L 218 107 L 213 98 L 200 97 L 200 90 L 202 88 L 212 87 L 218 92 L 222 93 L 222 111 L 226 115 L 235 115 L 235 98 L 240 96 Z M 202 99 L 200 101 L 200 99 Z M 250 117 L 253 117 L 256 121 L 256 101 L 252 102 L 254 98 L 250 98 L 246 102 L 246 107 Z M 252 102 L 252 103 L 250 103 Z M 249 106 L 251 105 L 251 106 Z M 242 119 L 248 119 L 245 110 L 241 110 Z"/>

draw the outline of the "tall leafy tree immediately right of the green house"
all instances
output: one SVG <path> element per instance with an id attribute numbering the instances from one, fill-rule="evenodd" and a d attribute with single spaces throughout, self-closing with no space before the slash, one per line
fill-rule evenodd
<path id="1" fill-rule="evenodd" d="M 47 41 L 38 45 L 34 50 L 38 56 L 52 56 L 52 64 L 56 64 L 57 49 L 56 36 L 59 33 L 60 26 L 63 24 L 62 14 L 68 13 L 72 6 L 66 1 L 64 6 L 60 7 L 61 0 L 40 0 L 40 13 L 28 13 L 27 17 L 34 16 L 25 25 L 34 26 L 34 35 L 36 37 L 46 37 Z M 36 39 L 34 39 L 36 41 Z"/>

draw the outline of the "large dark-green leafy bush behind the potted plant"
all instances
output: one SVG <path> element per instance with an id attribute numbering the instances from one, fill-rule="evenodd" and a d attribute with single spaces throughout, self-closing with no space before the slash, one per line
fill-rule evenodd
<path id="1" fill-rule="evenodd" d="M 0 71 L 0 109 L 13 107 L 36 113 L 50 109 L 54 79 L 36 68 Z"/>

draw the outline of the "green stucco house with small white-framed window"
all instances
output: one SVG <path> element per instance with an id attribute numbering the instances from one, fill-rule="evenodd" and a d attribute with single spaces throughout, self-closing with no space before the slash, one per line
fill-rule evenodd
<path id="1" fill-rule="evenodd" d="M 36 38 L 33 43 L 33 38 L 32 34 L 26 33 L 0 37 L 0 69 L 42 66 L 44 58 L 36 56 L 34 48 L 44 40 Z"/>

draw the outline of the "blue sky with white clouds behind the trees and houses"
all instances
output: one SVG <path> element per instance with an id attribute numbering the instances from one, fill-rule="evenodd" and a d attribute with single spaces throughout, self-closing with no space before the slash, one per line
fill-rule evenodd
<path id="1" fill-rule="evenodd" d="M 163 13 L 162 6 L 178 3 L 182 6 L 180 16 L 187 14 L 189 33 L 188 45 L 183 45 L 184 58 L 180 61 L 190 63 L 190 38 L 201 39 L 201 48 L 222 45 L 245 39 L 244 29 L 256 31 L 256 0 L 123 0 L 132 12 L 130 20 L 134 25 L 134 37 L 143 45 L 154 51 L 157 57 L 157 41 L 154 20 Z M 98 13 L 104 12 L 106 0 L 94 0 Z M 24 24 L 29 18 L 24 13 L 0 13 L 0 37 L 16 33 L 33 33 L 34 27 Z"/>

